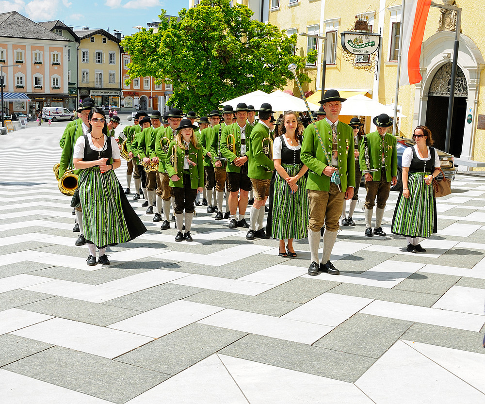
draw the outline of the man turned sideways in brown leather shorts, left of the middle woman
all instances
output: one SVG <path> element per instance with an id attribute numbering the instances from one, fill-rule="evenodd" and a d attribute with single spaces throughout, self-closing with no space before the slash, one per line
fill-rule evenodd
<path id="1" fill-rule="evenodd" d="M 270 134 L 270 121 L 273 118 L 271 105 L 264 103 L 259 108 L 259 122 L 251 130 L 251 137 L 248 144 L 249 167 L 248 176 L 251 178 L 254 192 L 254 203 L 249 213 L 249 230 L 246 234 L 247 240 L 254 240 L 255 237 L 269 239 L 263 229 L 264 210 L 266 199 L 270 194 L 270 182 L 275 170 L 275 164 L 264 152 L 268 147 L 273 152 L 273 145 Z M 269 138 L 269 139 L 267 139 Z M 266 140 L 265 140 L 266 139 Z"/>

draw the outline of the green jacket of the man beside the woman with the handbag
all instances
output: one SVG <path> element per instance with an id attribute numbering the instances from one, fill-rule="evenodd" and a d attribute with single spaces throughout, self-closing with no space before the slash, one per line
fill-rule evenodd
<path id="1" fill-rule="evenodd" d="M 382 137 L 379 132 L 369 133 L 367 136 L 367 144 L 369 145 L 369 168 L 378 168 L 378 171 L 371 173 L 373 181 L 381 180 L 382 167 Z M 391 133 L 384 134 L 384 162 L 386 167 L 386 181 L 391 182 L 392 177 L 397 177 L 397 140 Z M 367 170 L 365 163 L 365 147 L 364 141 L 360 145 L 359 163 L 360 170 Z"/>

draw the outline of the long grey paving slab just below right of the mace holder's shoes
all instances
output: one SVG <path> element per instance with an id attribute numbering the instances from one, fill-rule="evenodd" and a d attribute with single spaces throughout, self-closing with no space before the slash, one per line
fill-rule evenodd
<path id="1" fill-rule="evenodd" d="M 354 285 L 352 283 L 342 283 L 333 288 L 332 293 L 423 307 L 433 306 L 436 300 L 441 297 L 439 294 L 403 291 L 395 288 L 379 288 L 377 286 Z"/>

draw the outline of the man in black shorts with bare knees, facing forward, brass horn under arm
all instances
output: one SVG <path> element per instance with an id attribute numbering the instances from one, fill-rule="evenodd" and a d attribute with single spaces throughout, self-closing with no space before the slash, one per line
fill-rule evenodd
<path id="1" fill-rule="evenodd" d="M 219 146 L 222 155 L 227 159 L 228 205 L 231 213 L 229 228 L 249 228 L 244 215 L 248 194 L 253 185 L 247 174 L 249 158 L 246 155 L 246 145 L 249 144 L 251 129 L 253 128 L 246 123 L 247 105 L 244 102 L 240 102 L 234 112 L 236 113 L 236 123 L 228 125 L 222 130 Z M 236 220 L 238 208 L 239 217 Z"/>

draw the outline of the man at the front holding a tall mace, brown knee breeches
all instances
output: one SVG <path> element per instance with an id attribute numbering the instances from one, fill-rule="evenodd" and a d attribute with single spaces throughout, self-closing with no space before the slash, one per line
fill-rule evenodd
<path id="1" fill-rule="evenodd" d="M 318 275 L 319 270 L 339 275 L 339 270 L 330 262 L 342 212 L 343 201 L 354 196 L 356 164 L 354 161 L 354 135 L 352 128 L 339 122 L 342 109 L 337 90 L 328 90 L 320 101 L 326 117 L 305 129 L 301 147 L 301 160 L 308 167 L 307 190 L 310 200 L 308 243 L 311 264 L 308 275 Z M 332 180 L 331 180 L 332 179 Z M 323 234 L 323 254 L 318 264 L 320 229 Z"/>

